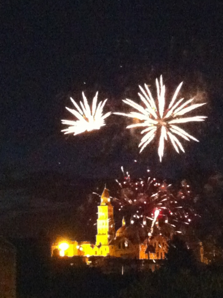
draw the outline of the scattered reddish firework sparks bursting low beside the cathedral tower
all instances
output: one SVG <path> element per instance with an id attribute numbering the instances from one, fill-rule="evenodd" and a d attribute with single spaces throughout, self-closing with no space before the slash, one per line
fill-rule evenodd
<path id="1" fill-rule="evenodd" d="M 123 171 L 123 174 L 122 182 L 116 180 L 119 191 L 113 202 L 122 216 L 131 218 L 131 224 L 138 222 L 147 227 L 148 236 L 152 236 L 155 227 L 159 233 L 181 233 L 196 215 L 186 181 L 182 181 L 176 189 L 156 178 L 131 179 L 128 172 L 125 174 Z"/>

